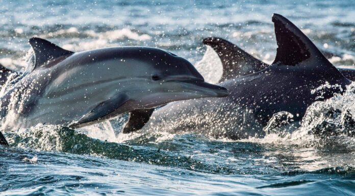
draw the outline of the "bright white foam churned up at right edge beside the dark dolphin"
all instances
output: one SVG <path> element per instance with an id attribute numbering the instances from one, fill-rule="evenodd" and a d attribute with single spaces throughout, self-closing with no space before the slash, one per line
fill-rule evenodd
<path id="1" fill-rule="evenodd" d="M 288 125 L 284 126 L 284 132 L 282 130 L 278 133 L 270 131 L 271 133 L 267 134 L 264 138 L 252 137 L 243 139 L 242 141 L 273 145 L 297 145 L 300 147 L 325 146 L 337 151 L 354 152 L 355 138 L 344 134 L 344 131 L 346 132 L 344 115 L 351 114 L 352 119 L 355 120 L 354 104 L 355 83 L 352 83 L 347 87 L 347 91 L 343 95 L 336 94 L 331 99 L 317 101 L 309 106 L 305 116 L 302 118 L 300 127 L 296 130 L 289 132 Z M 331 126 L 328 126 L 329 130 L 325 130 L 324 124 Z M 314 131 L 318 129 L 330 135 L 315 134 Z"/>

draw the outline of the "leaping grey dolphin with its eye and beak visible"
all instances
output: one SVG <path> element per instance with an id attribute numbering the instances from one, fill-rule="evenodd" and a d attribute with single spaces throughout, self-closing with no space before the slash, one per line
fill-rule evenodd
<path id="1" fill-rule="evenodd" d="M 162 49 L 74 53 L 40 38 L 29 42 L 33 71 L 0 97 L 6 130 L 38 123 L 79 128 L 171 101 L 228 95 L 224 87 L 205 82 L 189 61 Z"/>

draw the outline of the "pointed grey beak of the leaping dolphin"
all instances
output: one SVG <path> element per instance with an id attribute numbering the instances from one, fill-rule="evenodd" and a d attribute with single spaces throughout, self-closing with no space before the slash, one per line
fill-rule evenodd
<path id="1" fill-rule="evenodd" d="M 225 97 L 228 96 L 228 90 L 224 87 L 218 85 L 212 85 L 205 81 L 199 80 L 182 80 L 175 81 L 180 83 L 183 89 L 186 89 L 188 92 L 194 92 L 200 97 Z"/>

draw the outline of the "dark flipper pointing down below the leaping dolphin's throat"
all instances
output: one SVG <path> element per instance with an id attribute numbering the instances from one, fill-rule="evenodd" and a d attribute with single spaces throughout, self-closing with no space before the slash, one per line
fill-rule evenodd
<path id="1" fill-rule="evenodd" d="M 123 133 L 130 133 L 141 129 L 150 119 L 155 108 L 136 109 L 131 111 L 130 120 L 125 124 Z"/>

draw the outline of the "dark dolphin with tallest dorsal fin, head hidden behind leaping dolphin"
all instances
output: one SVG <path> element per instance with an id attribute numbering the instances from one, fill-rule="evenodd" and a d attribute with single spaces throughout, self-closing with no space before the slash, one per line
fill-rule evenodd
<path id="1" fill-rule="evenodd" d="M 248 67 L 261 70 L 225 74 L 219 85 L 229 90 L 229 96 L 170 103 L 156 109 L 143 129 L 187 129 L 232 139 L 262 137 L 262 127 L 274 114 L 286 111 L 299 122 L 312 103 L 346 90 L 351 81 L 291 21 L 273 14 L 272 22 L 277 51 L 271 65 L 256 64 L 249 54 L 239 51 Z"/>

